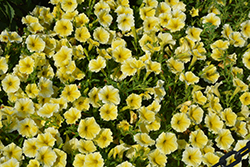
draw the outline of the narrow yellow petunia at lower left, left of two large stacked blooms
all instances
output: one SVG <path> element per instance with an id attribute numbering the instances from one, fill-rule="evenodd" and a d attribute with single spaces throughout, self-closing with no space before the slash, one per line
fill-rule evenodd
<path id="1" fill-rule="evenodd" d="M 33 158 L 36 156 L 36 152 L 38 149 L 36 141 L 37 141 L 36 138 L 30 138 L 24 140 L 23 153 L 25 154 L 25 156 L 29 158 Z"/>

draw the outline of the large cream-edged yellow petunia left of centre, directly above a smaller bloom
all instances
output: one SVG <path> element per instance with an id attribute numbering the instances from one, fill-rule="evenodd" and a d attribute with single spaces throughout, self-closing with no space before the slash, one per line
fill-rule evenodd
<path id="1" fill-rule="evenodd" d="M 118 105 L 120 103 L 119 90 L 112 85 L 105 85 L 98 93 L 99 99 L 103 103 L 113 103 Z"/>

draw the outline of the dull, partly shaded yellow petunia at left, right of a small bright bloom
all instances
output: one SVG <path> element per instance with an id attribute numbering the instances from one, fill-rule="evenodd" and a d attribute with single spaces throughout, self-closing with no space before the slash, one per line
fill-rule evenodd
<path id="1" fill-rule="evenodd" d="M 39 88 L 39 96 L 42 96 L 44 98 L 50 97 L 53 93 L 54 90 L 52 88 L 52 81 L 41 77 L 38 83 L 38 88 Z"/>

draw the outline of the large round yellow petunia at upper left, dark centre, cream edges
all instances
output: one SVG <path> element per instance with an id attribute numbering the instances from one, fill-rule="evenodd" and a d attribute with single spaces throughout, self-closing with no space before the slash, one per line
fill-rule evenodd
<path id="1" fill-rule="evenodd" d="M 45 48 L 45 42 L 38 35 L 29 35 L 25 43 L 30 52 L 42 52 Z"/>

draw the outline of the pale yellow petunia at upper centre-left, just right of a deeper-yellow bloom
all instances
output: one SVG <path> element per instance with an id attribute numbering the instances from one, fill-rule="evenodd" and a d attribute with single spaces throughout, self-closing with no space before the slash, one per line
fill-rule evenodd
<path id="1" fill-rule="evenodd" d="M 101 44 L 107 44 L 109 41 L 110 34 L 102 27 L 97 27 L 93 33 L 94 39 L 99 41 Z"/>

